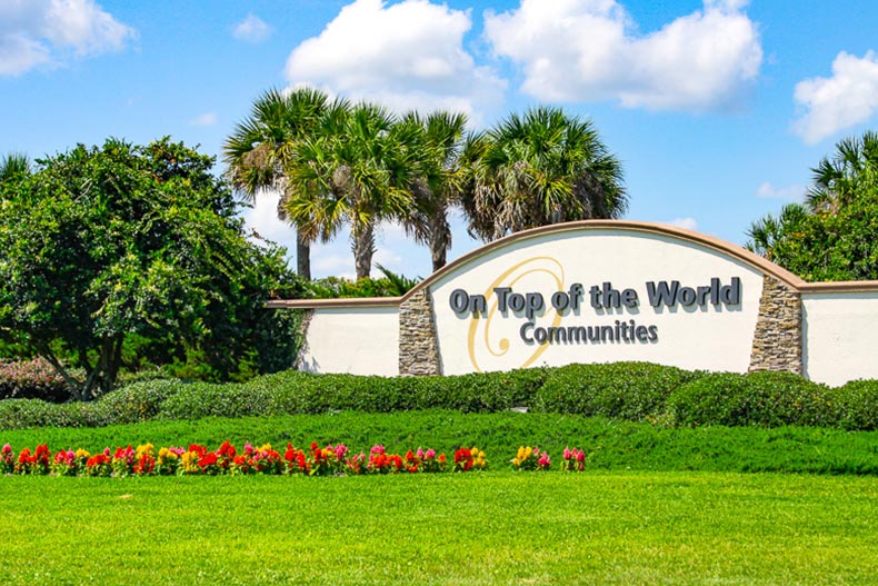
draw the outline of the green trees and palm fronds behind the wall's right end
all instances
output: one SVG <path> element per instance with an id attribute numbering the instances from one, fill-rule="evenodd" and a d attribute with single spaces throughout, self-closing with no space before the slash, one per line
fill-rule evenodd
<path id="1" fill-rule="evenodd" d="M 878 135 L 842 140 L 811 171 L 805 203 L 752 222 L 745 246 L 806 280 L 878 279 Z"/>

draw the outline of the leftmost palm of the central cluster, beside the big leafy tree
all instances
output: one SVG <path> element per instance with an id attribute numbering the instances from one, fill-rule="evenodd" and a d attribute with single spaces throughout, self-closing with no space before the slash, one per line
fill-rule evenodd
<path id="1" fill-rule="evenodd" d="M 235 127 L 223 145 L 232 186 L 251 201 L 262 189 L 280 190 L 278 217 L 287 220 L 283 205 L 288 182 L 286 169 L 297 147 L 323 123 L 328 110 L 329 99 L 313 88 L 291 92 L 271 89 L 257 98 L 250 116 Z M 299 224 L 293 224 L 297 227 L 297 272 L 310 279 L 310 242 L 313 239 L 307 237 Z"/>

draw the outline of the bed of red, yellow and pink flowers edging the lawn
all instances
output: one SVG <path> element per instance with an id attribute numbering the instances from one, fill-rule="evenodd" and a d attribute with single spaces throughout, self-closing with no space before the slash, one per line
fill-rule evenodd
<path id="1" fill-rule="evenodd" d="M 539 448 L 521 447 L 511 460 L 516 470 L 548 470 L 551 458 Z M 585 469 L 585 453 L 565 448 L 560 467 L 566 471 Z M 408 450 L 405 455 L 389 454 L 385 446 L 376 445 L 369 454 L 351 453 L 345 444 L 320 447 L 316 441 L 309 449 L 299 449 L 287 444 L 281 453 L 271 447 L 245 444 L 239 450 L 223 441 L 216 450 L 192 444 L 183 447 L 160 447 L 144 444 L 137 448 L 117 447 L 114 450 L 90 454 L 80 448 L 60 449 L 51 453 L 46 445 L 31 451 L 24 447 L 16 455 L 7 444 L 0 449 L 0 474 L 54 475 L 54 476 L 174 476 L 174 475 L 306 475 L 349 476 L 375 474 L 430 474 L 469 473 L 488 469 L 483 450 L 473 446 L 455 451 L 451 461 L 435 449 Z"/>

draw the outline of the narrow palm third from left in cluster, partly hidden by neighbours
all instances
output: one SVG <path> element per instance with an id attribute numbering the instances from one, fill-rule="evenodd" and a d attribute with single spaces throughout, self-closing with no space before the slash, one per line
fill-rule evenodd
<path id="1" fill-rule="evenodd" d="M 438 111 L 421 118 L 412 112 L 401 123 L 411 125 L 418 139 L 418 176 L 410 186 L 415 206 L 400 220 L 409 236 L 429 247 L 432 269 L 437 271 L 446 265 L 451 248 L 448 211 L 459 200 L 465 185 L 467 117 Z"/>

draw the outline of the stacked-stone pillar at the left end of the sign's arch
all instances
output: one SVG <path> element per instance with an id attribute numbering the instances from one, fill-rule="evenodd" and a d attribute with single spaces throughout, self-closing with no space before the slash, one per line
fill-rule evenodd
<path id="1" fill-rule="evenodd" d="M 399 306 L 399 374 L 439 374 L 436 320 L 430 294 L 426 288 Z"/>

